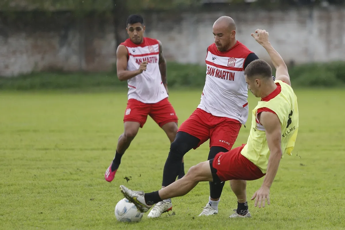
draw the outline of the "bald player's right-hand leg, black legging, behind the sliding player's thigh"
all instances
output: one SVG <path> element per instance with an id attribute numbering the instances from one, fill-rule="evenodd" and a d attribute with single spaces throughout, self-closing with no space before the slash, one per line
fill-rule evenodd
<path id="1" fill-rule="evenodd" d="M 228 150 L 220 146 L 212 146 L 208 154 L 207 160 L 215 158 L 219 152 L 227 152 Z M 199 216 L 209 216 L 213 214 L 218 214 L 218 203 L 220 200 L 220 194 L 224 187 L 224 182 L 209 182 L 210 183 L 210 197 L 208 203 L 204 207 L 204 210 L 199 214 Z"/>

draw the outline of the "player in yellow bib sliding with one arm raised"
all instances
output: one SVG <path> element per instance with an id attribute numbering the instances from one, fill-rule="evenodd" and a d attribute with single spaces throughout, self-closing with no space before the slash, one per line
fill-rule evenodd
<path id="1" fill-rule="evenodd" d="M 268 32 L 256 30 L 252 37 L 268 52 L 276 68 L 276 80 L 272 81 L 272 69 L 263 60 L 251 62 L 245 70 L 248 89 L 261 98 L 252 111 L 252 127 L 247 144 L 220 152 L 214 159 L 201 162 L 169 186 L 150 193 L 133 191 L 121 185 L 127 199 L 141 212 L 164 199 L 180 197 L 191 191 L 200 181 L 221 183 L 230 180 L 237 197 L 237 210 L 230 218 L 251 217 L 246 198 L 247 180 L 265 176 L 262 186 L 254 193 L 255 207 L 270 204 L 269 189 L 278 171 L 280 159 L 292 155 L 298 131 L 297 97 L 291 88 L 286 64 L 268 41 Z"/>

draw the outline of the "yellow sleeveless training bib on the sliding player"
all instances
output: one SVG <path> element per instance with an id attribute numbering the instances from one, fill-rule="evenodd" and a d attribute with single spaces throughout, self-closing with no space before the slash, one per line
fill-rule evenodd
<path id="1" fill-rule="evenodd" d="M 241 151 L 241 154 L 253 162 L 263 173 L 266 173 L 267 170 L 270 151 L 265 129 L 257 119 L 258 110 L 267 111 L 268 109 L 277 114 L 282 128 L 281 147 L 283 156 L 285 153 L 292 155 L 291 152 L 294 149 L 298 132 L 297 97 L 288 84 L 280 80 L 276 80 L 275 83 L 277 84 L 277 89 L 271 94 L 276 95 L 271 95 L 271 97 L 269 95 L 266 99 L 259 101 L 253 110 L 252 127 L 248 141 Z"/>

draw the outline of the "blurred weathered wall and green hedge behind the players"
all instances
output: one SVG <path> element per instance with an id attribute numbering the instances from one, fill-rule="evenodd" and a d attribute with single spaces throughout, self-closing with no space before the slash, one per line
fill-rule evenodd
<path id="1" fill-rule="evenodd" d="M 1 78 L 0 88 L 125 86 L 115 76 L 116 48 L 127 38 L 131 13 L 144 17 L 146 37 L 162 41 L 170 87 L 204 84 L 212 25 L 223 15 L 235 20 L 237 39 L 267 61 L 250 34 L 258 28 L 269 31 L 297 85 L 339 86 L 345 82 L 344 2 L 2 0 L 0 76 L 10 79 Z"/>

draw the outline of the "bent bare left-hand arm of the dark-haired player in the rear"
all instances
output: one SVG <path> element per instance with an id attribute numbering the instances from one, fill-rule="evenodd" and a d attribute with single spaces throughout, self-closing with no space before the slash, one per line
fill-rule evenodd
<path id="1" fill-rule="evenodd" d="M 127 81 L 146 70 L 147 61 L 141 62 L 139 69 L 127 70 L 128 51 L 124 45 L 120 45 L 116 50 L 117 77 L 120 81 Z"/>

